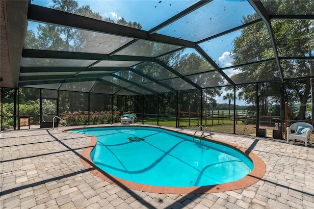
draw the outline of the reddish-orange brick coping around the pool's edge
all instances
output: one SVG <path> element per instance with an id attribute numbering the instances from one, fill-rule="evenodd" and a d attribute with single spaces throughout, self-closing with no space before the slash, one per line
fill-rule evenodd
<path id="1" fill-rule="evenodd" d="M 148 127 L 148 126 L 145 126 L 145 127 Z M 167 129 L 170 131 L 178 131 L 175 129 L 165 128 L 165 127 L 162 127 L 162 129 Z M 64 131 L 69 131 L 69 130 L 64 130 Z M 183 132 L 185 134 L 191 135 L 190 133 L 184 132 L 182 130 L 178 132 Z M 86 134 L 83 134 L 83 135 L 86 136 Z M 88 169 L 92 174 L 94 174 L 95 176 L 99 177 L 100 179 L 106 182 L 114 183 L 116 185 L 126 187 L 129 189 L 135 189 L 139 191 L 153 192 L 153 193 L 166 193 L 166 194 L 200 194 L 200 193 L 225 192 L 225 191 L 231 191 L 231 190 L 241 189 L 241 188 L 251 186 L 254 183 L 257 183 L 260 179 L 262 179 L 262 177 L 266 173 L 265 163 L 262 161 L 260 157 L 258 157 L 251 151 L 233 143 L 206 137 L 206 139 L 208 140 L 216 141 L 218 143 L 232 146 L 238 149 L 239 151 L 245 153 L 253 161 L 253 164 L 254 164 L 253 170 L 247 176 L 235 182 L 222 183 L 222 184 L 210 185 L 210 186 L 177 186 L 176 187 L 176 186 L 154 186 L 154 185 L 147 185 L 147 184 L 142 184 L 142 183 L 135 183 L 135 182 L 131 182 L 128 180 L 124 180 L 124 179 L 120 179 L 118 177 L 112 176 L 106 173 L 105 171 L 101 170 L 100 168 L 98 168 L 93 163 L 92 159 L 90 158 L 90 154 L 97 143 L 97 138 L 92 135 L 90 135 L 90 137 L 91 137 L 91 141 L 89 145 L 87 146 L 87 148 L 83 150 L 81 158 L 80 158 L 84 167 Z"/>

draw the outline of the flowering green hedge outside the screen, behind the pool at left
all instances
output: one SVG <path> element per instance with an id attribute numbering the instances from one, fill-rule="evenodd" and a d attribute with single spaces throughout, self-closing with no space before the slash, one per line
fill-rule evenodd
<path id="1" fill-rule="evenodd" d="M 113 123 L 119 122 L 121 113 L 119 111 L 113 112 Z M 95 125 L 112 123 L 112 111 L 88 112 L 75 111 L 60 114 L 60 117 L 67 122 L 68 126 L 79 125 Z M 88 120 L 89 119 L 89 120 Z"/>

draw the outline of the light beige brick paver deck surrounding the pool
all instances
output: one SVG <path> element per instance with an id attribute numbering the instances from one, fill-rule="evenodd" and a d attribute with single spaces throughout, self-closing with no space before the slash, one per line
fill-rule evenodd
<path id="1" fill-rule="evenodd" d="M 266 164 L 262 179 L 209 194 L 143 192 L 108 183 L 83 166 L 80 157 L 89 136 L 52 129 L 2 131 L 0 208 L 314 209 L 313 144 L 223 133 L 214 137 L 260 157 Z"/>

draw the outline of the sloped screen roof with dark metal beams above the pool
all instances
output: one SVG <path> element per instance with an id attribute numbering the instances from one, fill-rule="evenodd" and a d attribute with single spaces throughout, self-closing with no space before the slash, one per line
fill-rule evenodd
<path id="1" fill-rule="evenodd" d="M 27 21 L 19 86 L 147 95 L 313 77 L 300 66 L 314 0 L 32 0 Z"/>

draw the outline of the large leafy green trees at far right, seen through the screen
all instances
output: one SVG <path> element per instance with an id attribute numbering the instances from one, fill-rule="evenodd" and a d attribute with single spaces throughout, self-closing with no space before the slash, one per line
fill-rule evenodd
<path id="1" fill-rule="evenodd" d="M 263 5 L 269 13 L 303 14 L 305 11 L 313 11 L 313 1 L 297 1 L 298 6 L 292 6 L 291 1 L 264 0 Z M 243 18 L 243 22 L 251 22 L 256 15 Z M 273 20 L 271 21 L 273 33 L 279 56 L 301 57 L 307 56 L 314 50 L 314 21 L 313 20 Z M 234 40 L 234 62 L 235 64 L 249 63 L 274 57 L 270 44 L 268 30 L 263 23 L 257 23 L 243 28 L 241 35 Z M 280 62 L 284 78 L 298 78 L 311 75 L 313 62 L 305 59 L 281 60 Z M 280 89 L 280 83 L 271 83 L 272 79 L 280 79 L 278 67 L 275 61 L 263 62 L 238 67 L 240 73 L 232 76 L 234 80 L 247 80 L 247 82 L 268 81 L 259 85 L 259 91 L 273 93 Z M 310 95 L 310 78 L 285 82 L 286 101 L 299 101 L 300 106 L 298 120 L 305 119 L 306 104 Z M 239 97 L 243 97 L 248 104 L 254 104 L 256 94 L 255 85 L 239 87 Z M 289 94 L 288 94 L 289 93 Z M 266 97 L 265 97 L 266 98 Z M 312 101 L 313 103 L 313 101 Z M 267 104 L 265 101 L 264 104 Z M 263 108 L 267 109 L 267 106 Z"/>

